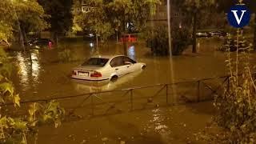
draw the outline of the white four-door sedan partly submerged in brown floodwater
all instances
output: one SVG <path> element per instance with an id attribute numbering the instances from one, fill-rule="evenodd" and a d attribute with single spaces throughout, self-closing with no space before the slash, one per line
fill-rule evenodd
<path id="1" fill-rule="evenodd" d="M 125 74 L 146 68 L 145 63 L 135 62 L 124 55 L 98 56 L 74 68 L 71 78 L 88 81 L 108 80 L 114 82 Z"/>

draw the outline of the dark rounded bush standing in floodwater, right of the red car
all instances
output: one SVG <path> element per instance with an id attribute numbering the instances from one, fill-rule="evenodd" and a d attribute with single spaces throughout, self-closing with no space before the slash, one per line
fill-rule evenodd
<path id="1" fill-rule="evenodd" d="M 172 55 L 180 55 L 190 45 L 190 34 L 186 28 L 174 29 L 171 34 Z M 146 38 L 146 46 L 151 49 L 155 55 L 169 55 L 169 35 L 166 26 L 159 26 L 154 30 L 150 30 L 148 38 Z"/>

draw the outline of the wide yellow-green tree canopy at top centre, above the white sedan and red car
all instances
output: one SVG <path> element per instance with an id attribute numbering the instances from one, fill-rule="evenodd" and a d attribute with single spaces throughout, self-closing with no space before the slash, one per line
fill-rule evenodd
<path id="1" fill-rule="evenodd" d="M 116 31 L 118 39 L 118 33 L 126 33 L 127 24 L 132 23 L 138 28 L 145 26 L 146 20 L 154 14 L 159 3 L 159 0 L 90 0 L 87 4 L 94 9 L 78 23 L 90 27 L 103 39 L 109 38 Z"/>

